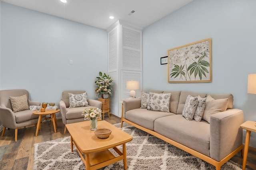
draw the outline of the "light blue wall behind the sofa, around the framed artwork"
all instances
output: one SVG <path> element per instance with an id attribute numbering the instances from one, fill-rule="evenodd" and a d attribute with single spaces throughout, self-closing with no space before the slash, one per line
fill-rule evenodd
<path id="1" fill-rule="evenodd" d="M 256 121 L 256 95 L 247 94 L 248 74 L 256 73 L 255 9 L 255 0 L 194 0 L 146 27 L 143 90 L 232 93 L 244 120 Z M 212 82 L 168 83 L 167 64 L 160 65 L 160 57 L 168 49 L 206 38 L 212 38 Z"/>

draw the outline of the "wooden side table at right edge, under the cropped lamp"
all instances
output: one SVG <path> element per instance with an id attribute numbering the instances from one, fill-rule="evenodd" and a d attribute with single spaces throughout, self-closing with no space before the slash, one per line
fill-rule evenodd
<path id="1" fill-rule="evenodd" d="M 242 125 L 240 125 L 240 127 L 242 127 L 243 129 L 246 129 L 246 136 L 245 136 L 245 143 L 244 143 L 243 170 L 245 170 L 246 168 L 246 161 L 247 161 L 251 132 L 256 132 L 255 123 L 256 123 L 255 121 L 246 121 Z"/>

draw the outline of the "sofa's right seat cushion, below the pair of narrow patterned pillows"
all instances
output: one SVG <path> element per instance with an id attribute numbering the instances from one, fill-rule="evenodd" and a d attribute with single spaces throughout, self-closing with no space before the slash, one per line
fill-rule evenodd
<path id="1" fill-rule="evenodd" d="M 210 156 L 210 124 L 204 120 L 187 121 L 182 115 L 161 117 L 154 121 L 154 131 Z"/>

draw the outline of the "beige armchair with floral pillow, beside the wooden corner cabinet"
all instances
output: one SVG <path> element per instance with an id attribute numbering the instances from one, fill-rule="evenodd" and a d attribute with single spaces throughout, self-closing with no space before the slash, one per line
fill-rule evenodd
<path id="1" fill-rule="evenodd" d="M 85 93 L 85 91 L 69 90 L 69 91 L 62 92 L 62 99 L 60 101 L 60 112 L 61 112 L 62 122 L 64 123 L 64 125 L 84 121 L 84 116 L 82 115 L 82 113 L 84 109 L 87 107 L 97 107 L 101 109 L 102 102 L 99 102 L 98 100 L 92 100 L 92 99 L 87 99 L 89 106 L 69 108 L 70 101 L 69 101 L 68 93 L 82 94 L 82 93 Z M 66 126 L 64 129 L 64 133 L 66 133 Z"/>

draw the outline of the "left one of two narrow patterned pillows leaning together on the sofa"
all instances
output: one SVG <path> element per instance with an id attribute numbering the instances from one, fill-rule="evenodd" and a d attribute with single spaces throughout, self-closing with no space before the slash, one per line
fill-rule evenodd
<path id="1" fill-rule="evenodd" d="M 193 116 L 195 114 L 195 111 L 196 111 L 197 104 L 198 104 L 197 96 L 192 97 L 192 96 L 188 95 L 188 97 L 186 99 L 185 106 L 182 111 L 182 116 L 184 116 L 189 121 L 192 120 Z"/>

